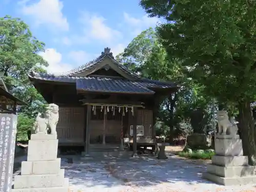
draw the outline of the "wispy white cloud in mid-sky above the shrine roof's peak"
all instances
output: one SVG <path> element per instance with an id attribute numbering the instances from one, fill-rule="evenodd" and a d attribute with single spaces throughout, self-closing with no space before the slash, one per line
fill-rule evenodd
<path id="1" fill-rule="evenodd" d="M 106 19 L 102 16 L 83 12 L 80 18 L 84 35 L 87 39 L 96 39 L 103 42 L 111 42 L 120 38 L 122 34 L 105 24 Z"/>

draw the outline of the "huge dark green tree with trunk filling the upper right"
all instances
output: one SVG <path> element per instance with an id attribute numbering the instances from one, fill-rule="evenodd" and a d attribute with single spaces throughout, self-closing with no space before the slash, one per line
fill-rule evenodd
<path id="1" fill-rule="evenodd" d="M 254 164 L 254 122 L 250 102 L 256 95 L 256 2 L 141 0 L 150 16 L 163 17 L 158 27 L 169 55 L 189 67 L 189 75 L 219 102 L 239 110 L 244 154 Z"/>

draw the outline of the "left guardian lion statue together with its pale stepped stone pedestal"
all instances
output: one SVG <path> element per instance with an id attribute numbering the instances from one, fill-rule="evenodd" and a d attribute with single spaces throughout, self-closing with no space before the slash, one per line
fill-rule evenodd
<path id="1" fill-rule="evenodd" d="M 69 179 L 64 177 L 60 158 L 57 158 L 57 122 L 56 104 L 49 104 L 44 115 L 37 115 L 36 134 L 32 134 L 29 140 L 28 159 L 22 162 L 21 175 L 14 178 L 12 192 L 68 192 Z M 47 134 L 47 127 L 50 127 L 51 134 Z"/>

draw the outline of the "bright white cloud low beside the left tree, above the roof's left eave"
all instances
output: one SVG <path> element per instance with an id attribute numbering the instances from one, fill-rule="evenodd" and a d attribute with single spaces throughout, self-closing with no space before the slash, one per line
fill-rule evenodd
<path id="1" fill-rule="evenodd" d="M 53 48 L 47 49 L 39 55 L 48 62 L 49 66 L 44 67 L 48 73 L 61 73 L 73 69 L 71 65 L 62 62 L 62 55 Z"/>

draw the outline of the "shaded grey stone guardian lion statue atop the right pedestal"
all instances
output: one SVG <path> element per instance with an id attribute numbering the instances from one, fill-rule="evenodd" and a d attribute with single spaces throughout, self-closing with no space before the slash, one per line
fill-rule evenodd
<path id="1" fill-rule="evenodd" d="M 218 135 L 231 135 L 235 136 L 238 132 L 238 126 L 234 122 L 234 118 L 230 117 L 228 119 L 227 111 L 218 111 L 217 112 L 218 119 Z"/>

